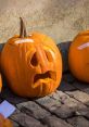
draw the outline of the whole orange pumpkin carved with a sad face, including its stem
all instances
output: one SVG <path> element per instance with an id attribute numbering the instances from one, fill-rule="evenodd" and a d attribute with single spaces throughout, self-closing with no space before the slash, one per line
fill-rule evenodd
<path id="1" fill-rule="evenodd" d="M 54 91 L 62 77 L 62 59 L 54 41 L 46 35 L 21 34 L 5 43 L 1 66 L 11 89 L 22 97 L 43 97 Z"/>

